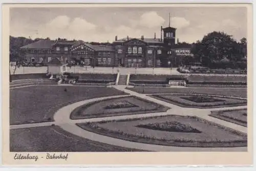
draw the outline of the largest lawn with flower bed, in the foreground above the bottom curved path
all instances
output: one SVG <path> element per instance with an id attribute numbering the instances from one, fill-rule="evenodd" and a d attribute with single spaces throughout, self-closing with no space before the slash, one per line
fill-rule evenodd
<path id="1" fill-rule="evenodd" d="M 128 141 L 187 147 L 247 146 L 247 135 L 192 116 L 78 123 L 84 130 Z"/>

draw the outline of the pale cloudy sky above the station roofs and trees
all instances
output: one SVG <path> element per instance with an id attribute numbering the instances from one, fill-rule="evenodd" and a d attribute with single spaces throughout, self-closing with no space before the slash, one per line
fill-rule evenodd
<path id="1" fill-rule="evenodd" d="M 188 43 L 211 31 L 240 40 L 247 36 L 245 7 L 81 7 L 11 8 L 10 35 L 112 42 L 115 36 L 160 38 L 160 27 L 177 28 L 176 38 Z"/>

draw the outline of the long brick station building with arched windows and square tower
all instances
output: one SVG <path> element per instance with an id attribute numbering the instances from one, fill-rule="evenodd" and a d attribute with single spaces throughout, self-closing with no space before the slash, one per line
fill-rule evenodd
<path id="1" fill-rule="evenodd" d="M 42 62 L 47 65 L 53 58 L 61 61 L 73 61 L 76 65 L 83 62 L 89 66 L 102 67 L 162 67 L 163 61 L 178 67 L 184 57 L 190 56 L 190 46 L 175 44 L 176 28 L 160 29 L 160 38 L 125 37 L 110 45 L 91 45 L 82 40 L 39 40 L 20 48 L 20 56 L 27 62 Z M 165 63 L 166 66 L 166 63 Z"/>

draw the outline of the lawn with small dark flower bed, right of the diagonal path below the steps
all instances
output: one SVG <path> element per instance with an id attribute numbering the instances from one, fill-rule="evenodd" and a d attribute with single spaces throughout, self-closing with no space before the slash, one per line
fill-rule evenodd
<path id="1" fill-rule="evenodd" d="M 200 95 L 149 95 L 150 97 L 163 100 L 168 103 L 182 106 L 183 108 L 221 108 L 230 106 L 246 105 L 247 100 L 224 97 L 210 97 Z"/>

